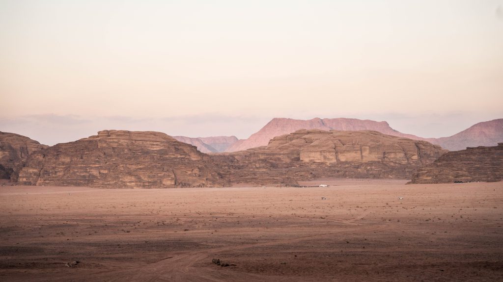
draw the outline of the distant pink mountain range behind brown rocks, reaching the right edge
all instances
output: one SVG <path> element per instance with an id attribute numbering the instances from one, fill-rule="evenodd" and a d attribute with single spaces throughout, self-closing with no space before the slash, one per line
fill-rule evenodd
<path id="1" fill-rule="evenodd" d="M 313 118 L 308 120 L 273 118 L 262 129 L 251 134 L 249 138 L 238 140 L 226 152 L 236 152 L 266 146 L 269 144 L 270 139 L 279 135 L 292 133 L 299 129 L 375 130 L 388 135 L 428 141 L 432 144 L 440 145 L 449 151 L 463 150 L 466 147 L 495 146 L 498 142 L 503 142 L 503 119 L 477 123 L 450 137 L 424 138 L 399 132 L 391 128 L 386 121 L 356 118 Z"/>

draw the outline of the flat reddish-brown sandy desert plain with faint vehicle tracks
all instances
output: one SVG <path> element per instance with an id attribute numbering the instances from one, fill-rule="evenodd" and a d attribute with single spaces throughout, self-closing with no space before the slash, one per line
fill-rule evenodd
<path id="1" fill-rule="evenodd" d="M 405 182 L 0 187 L 0 280 L 502 281 L 503 183 Z"/>

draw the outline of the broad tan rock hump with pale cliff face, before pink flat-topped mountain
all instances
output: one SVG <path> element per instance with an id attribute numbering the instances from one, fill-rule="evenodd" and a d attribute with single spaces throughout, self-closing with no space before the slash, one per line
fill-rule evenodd
<path id="1" fill-rule="evenodd" d="M 446 152 L 377 131 L 301 129 L 273 138 L 268 146 L 214 157 L 231 159 L 222 176 L 232 183 L 296 185 L 319 177 L 410 179 Z"/>

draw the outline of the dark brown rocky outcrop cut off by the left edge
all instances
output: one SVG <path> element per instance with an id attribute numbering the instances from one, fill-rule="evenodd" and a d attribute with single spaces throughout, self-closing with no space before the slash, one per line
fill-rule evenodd
<path id="1" fill-rule="evenodd" d="M 16 181 L 28 156 L 47 147 L 26 136 L 0 131 L 0 179 Z"/>

